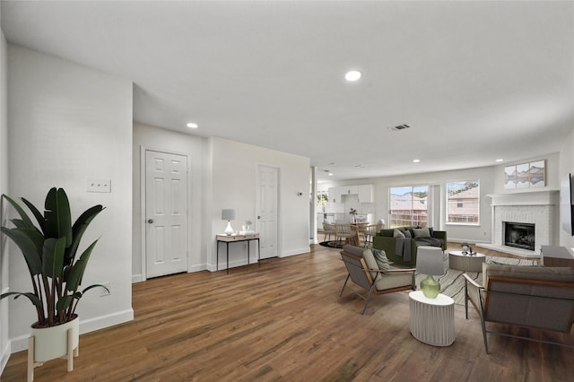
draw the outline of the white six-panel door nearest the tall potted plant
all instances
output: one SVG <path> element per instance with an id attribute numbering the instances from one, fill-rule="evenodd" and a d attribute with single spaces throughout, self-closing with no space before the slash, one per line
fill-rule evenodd
<path id="1" fill-rule="evenodd" d="M 146 277 L 187 271 L 187 157 L 145 152 Z"/>

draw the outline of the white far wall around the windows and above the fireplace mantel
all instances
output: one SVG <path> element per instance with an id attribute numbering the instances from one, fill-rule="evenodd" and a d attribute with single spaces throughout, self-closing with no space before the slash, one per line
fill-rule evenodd
<path id="1" fill-rule="evenodd" d="M 545 189 L 558 189 L 559 188 L 559 158 L 560 155 L 556 152 L 547 155 L 528 158 L 524 161 L 517 161 L 516 163 L 523 163 L 526 161 L 546 160 L 546 187 L 536 188 L 536 190 Z M 351 185 L 375 185 L 375 201 L 376 213 L 378 218 L 388 219 L 388 192 L 390 187 L 401 186 L 440 186 L 440 200 L 446 200 L 446 183 L 457 180 L 480 180 L 481 187 L 481 207 L 480 207 L 480 225 L 457 225 L 445 223 L 445 205 L 441 205 L 441 218 L 440 227 L 435 229 L 447 230 L 448 240 L 453 241 L 469 241 L 469 242 L 491 242 L 491 205 L 490 198 L 486 195 L 489 194 L 506 194 L 514 192 L 527 192 L 533 191 L 532 189 L 521 190 L 505 190 L 504 189 L 504 167 L 510 164 L 489 166 L 475 169 L 457 169 L 452 171 L 439 171 L 429 172 L 422 174 L 404 175 L 396 177 L 385 178 L 368 178 L 368 179 L 353 179 L 349 181 L 334 182 L 332 184 L 321 184 L 320 189 L 328 189 L 328 187 L 336 186 L 351 186 Z"/>

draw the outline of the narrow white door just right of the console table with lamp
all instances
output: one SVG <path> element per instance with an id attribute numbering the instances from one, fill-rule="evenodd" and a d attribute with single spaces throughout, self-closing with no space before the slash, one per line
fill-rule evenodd
<path id="1" fill-rule="evenodd" d="M 257 231 L 261 244 L 261 258 L 278 255 L 277 250 L 277 200 L 279 169 L 257 166 Z"/>

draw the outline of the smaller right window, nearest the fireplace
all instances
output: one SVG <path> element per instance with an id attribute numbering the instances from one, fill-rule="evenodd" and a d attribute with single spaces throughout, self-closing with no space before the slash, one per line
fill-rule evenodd
<path id="1" fill-rule="evenodd" d="M 480 181 L 447 183 L 447 223 L 479 224 Z"/>

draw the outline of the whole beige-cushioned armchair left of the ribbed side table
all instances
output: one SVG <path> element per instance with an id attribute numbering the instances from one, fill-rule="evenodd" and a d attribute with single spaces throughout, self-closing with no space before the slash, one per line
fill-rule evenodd
<path id="1" fill-rule="evenodd" d="M 390 267 L 389 269 L 379 269 L 377 260 L 375 260 L 375 256 L 373 256 L 369 248 L 345 245 L 341 252 L 341 259 L 344 261 L 348 273 L 339 297 L 343 296 L 347 282 L 351 279 L 352 282 L 367 291 L 366 296 L 354 292 L 361 299 L 365 300 L 361 313 L 363 315 L 373 294 L 409 291 L 416 288 L 414 283 L 415 269 Z"/>

